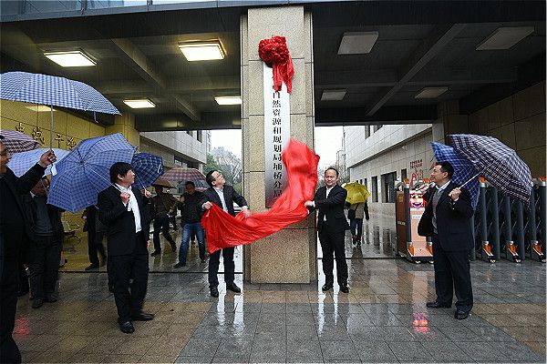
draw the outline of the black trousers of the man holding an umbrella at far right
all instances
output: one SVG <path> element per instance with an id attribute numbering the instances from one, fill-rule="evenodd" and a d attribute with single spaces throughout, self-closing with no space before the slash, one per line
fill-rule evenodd
<path id="1" fill-rule="evenodd" d="M 469 312 L 473 307 L 469 251 L 445 251 L 440 246 L 437 235 L 431 240 L 437 300 L 452 304 L 453 292 L 456 291 L 456 308 Z"/>

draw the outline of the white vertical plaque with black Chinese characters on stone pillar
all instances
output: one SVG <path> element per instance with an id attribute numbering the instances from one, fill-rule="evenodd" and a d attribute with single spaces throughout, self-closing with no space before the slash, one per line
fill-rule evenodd
<path id="1" fill-rule="evenodd" d="M 264 85 L 264 157 L 266 207 L 272 207 L 287 187 L 287 172 L 281 152 L 291 136 L 291 106 L 287 88 L 274 91 L 272 68 L 263 65 Z"/>

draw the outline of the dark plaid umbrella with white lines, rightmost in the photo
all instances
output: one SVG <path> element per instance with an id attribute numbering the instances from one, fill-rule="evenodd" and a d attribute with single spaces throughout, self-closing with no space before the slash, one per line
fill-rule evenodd
<path id="1" fill-rule="evenodd" d="M 514 150 L 492 136 L 455 134 L 449 136 L 449 142 L 494 187 L 509 197 L 529 203 L 532 173 Z"/>

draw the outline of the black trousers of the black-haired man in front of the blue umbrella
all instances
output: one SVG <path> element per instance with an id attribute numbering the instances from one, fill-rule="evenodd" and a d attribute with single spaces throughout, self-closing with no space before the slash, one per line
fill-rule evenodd
<path id="1" fill-rule="evenodd" d="M 140 239 L 138 235 L 135 238 Z M 138 241 L 132 254 L 108 256 L 108 268 L 114 280 L 114 300 L 120 323 L 130 321 L 131 315 L 139 314 L 142 309 L 148 286 L 148 259 L 148 249 L 141 241 Z"/>

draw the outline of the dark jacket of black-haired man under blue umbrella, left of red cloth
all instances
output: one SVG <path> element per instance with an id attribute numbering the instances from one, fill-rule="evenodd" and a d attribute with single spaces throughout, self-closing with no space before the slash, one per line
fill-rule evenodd
<path id="1" fill-rule="evenodd" d="M 131 187 L 137 203 L 139 204 L 140 226 L 142 231 L 146 228 L 146 218 L 144 217 L 144 205 L 140 191 L 136 187 Z M 129 255 L 135 251 L 135 218 L 133 212 L 121 202 L 118 188 L 110 186 L 98 194 L 98 218 L 107 226 L 108 255 L 122 256 Z M 140 234 L 139 244 L 145 248 L 147 245 L 146 231 Z"/>

